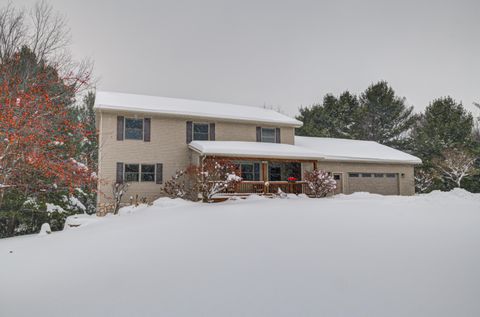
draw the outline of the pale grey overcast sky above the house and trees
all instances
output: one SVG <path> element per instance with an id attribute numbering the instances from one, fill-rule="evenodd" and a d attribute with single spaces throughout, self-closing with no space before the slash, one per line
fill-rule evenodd
<path id="1" fill-rule="evenodd" d="M 101 90 L 294 115 L 384 79 L 418 111 L 445 95 L 470 110 L 480 102 L 479 0 L 50 3 L 69 20 L 75 55 L 95 61 Z"/>

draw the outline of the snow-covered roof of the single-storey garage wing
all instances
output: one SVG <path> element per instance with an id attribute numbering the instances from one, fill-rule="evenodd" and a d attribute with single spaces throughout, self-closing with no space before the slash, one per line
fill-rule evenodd
<path id="1" fill-rule="evenodd" d="M 295 145 L 317 152 L 327 161 L 422 163 L 416 156 L 373 141 L 295 136 Z"/>

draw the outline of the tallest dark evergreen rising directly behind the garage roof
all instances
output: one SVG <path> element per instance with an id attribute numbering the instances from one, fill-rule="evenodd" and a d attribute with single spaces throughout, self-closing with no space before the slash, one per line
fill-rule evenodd
<path id="1" fill-rule="evenodd" d="M 359 98 L 357 137 L 362 140 L 404 147 L 408 131 L 415 123 L 413 107 L 395 95 L 386 81 L 369 86 Z"/>

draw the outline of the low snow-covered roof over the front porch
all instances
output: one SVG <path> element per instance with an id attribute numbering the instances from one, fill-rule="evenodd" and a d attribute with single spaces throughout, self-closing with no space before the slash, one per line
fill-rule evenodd
<path id="1" fill-rule="evenodd" d="M 317 152 L 304 147 L 283 143 L 242 141 L 193 141 L 189 147 L 202 154 L 227 157 L 277 158 L 296 160 L 318 160 Z"/>

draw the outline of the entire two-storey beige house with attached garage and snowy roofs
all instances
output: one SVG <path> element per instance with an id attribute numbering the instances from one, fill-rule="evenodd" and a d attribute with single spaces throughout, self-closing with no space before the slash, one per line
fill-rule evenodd
<path id="1" fill-rule="evenodd" d="M 238 164 L 240 193 L 292 190 L 288 177 L 331 172 L 336 193 L 414 194 L 413 167 L 420 159 L 371 141 L 295 136 L 302 122 L 273 110 L 196 100 L 97 92 L 99 203 L 112 184 L 129 182 L 126 199 L 153 200 L 178 169 L 205 157 Z"/>

